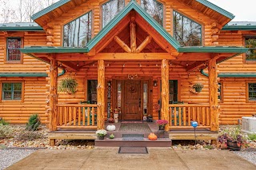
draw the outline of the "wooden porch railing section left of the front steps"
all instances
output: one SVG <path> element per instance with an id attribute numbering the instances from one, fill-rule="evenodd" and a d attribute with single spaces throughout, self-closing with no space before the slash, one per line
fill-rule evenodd
<path id="1" fill-rule="evenodd" d="M 58 104 L 57 128 L 97 128 L 97 105 Z"/>

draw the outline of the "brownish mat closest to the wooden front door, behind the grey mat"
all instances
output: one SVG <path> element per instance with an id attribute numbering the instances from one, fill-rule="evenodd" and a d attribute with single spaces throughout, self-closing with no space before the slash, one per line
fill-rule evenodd
<path id="1" fill-rule="evenodd" d="M 126 123 L 126 124 L 120 125 L 119 132 L 151 132 L 151 129 L 149 125 L 147 125 L 147 123 L 143 123 L 143 124 Z"/>

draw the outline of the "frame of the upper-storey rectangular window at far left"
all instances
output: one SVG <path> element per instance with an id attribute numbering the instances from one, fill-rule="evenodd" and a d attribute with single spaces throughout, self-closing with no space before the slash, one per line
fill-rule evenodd
<path id="1" fill-rule="evenodd" d="M 6 37 L 6 50 L 4 53 L 4 63 L 5 64 L 22 64 L 23 63 L 23 53 L 20 51 L 21 56 L 20 56 L 20 60 L 16 60 L 16 61 L 12 61 L 12 60 L 8 60 L 9 56 L 8 56 L 8 40 L 9 39 L 20 39 L 21 40 L 21 47 L 20 49 L 22 49 L 24 47 L 24 41 L 23 41 L 23 37 Z"/>

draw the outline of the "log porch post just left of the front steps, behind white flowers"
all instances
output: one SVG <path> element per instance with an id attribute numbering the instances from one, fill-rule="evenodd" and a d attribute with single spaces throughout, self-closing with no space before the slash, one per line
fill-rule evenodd
<path id="1" fill-rule="evenodd" d="M 104 60 L 98 60 L 98 87 L 97 87 L 97 129 L 104 128 L 105 108 L 105 65 Z"/>

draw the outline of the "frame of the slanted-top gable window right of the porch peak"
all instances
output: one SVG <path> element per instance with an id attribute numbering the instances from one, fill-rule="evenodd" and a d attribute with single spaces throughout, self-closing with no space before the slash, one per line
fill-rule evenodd
<path id="1" fill-rule="evenodd" d="M 190 19 L 192 22 L 194 22 L 194 23 L 196 23 L 196 24 L 198 24 L 198 25 L 200 25 L 201 26 L 201 38 L 200 38 L 200 45 L 198 45 L 198 46 L 202 46 L 202 45 L 204 45 L 204 24 L 203 23 L 200 23 L 200 22 L 197 22 L 197 21 L 195 21 L 194 20 L 194 18 L 190 18 L 190 17 L 188 17 L 188 16 L 186 16 L 186 14 L 183 14 L 182 12 L 180 12 L 180 11 L 178 11 L 178 10 L 174 10 L 174 9 L 172 9 L 172 32 L 173 32 L 173 37 L 174 37 L 174 12 L 176 12 L 176 13 L 178 13 L 178 14 L 180 14 L 180 15 L 182 15 L 183 17 L 185 17 L 185 18 L 188 18 L 188 19 Z M 174 38 L 175 39 L 175 38 Z M 176 40 L 176 39 L 175 39 Z M 178 42 L 178 40 L 176 40 L 177 42 Z M 179 43 L 179 42 L 178 42 Z"/>

